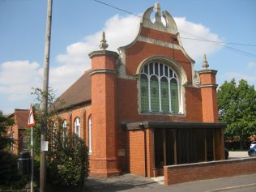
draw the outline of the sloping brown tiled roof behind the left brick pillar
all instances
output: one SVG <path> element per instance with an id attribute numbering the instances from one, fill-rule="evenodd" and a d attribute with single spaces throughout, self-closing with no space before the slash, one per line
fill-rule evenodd
<path id="1" fill-rule="evenodd" d="M 60 104 L 55 106 L 55 110 L 70 108 L 81 105 L 92 100 L 91 70 L 87 70 L 75 81 L 65 92 L 59 96 Z"/>

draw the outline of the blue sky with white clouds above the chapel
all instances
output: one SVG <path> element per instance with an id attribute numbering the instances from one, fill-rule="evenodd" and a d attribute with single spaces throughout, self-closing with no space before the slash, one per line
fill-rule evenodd
<path id="1" fill-rule="evenodd" d="M 53 0 L 49 87 L 56 96 L 90 69 L 88 53 L 99 49 L 102 31 L 109 50 L 130 44 L 138 34 L 139 15 L 156 0 L 100 2 Z M 173 15 L 195 70 L 206 53 L 209 68 L 218 70 L 219 85 L 234 78 L 256 86 L 256 1 L 158 2 L 161 11 Z M 32 87 L 42 88 L 46 13 L 47 0 L 0 0 L 0 110 L 5 114 L 29 109 L 36 102 Z"/>

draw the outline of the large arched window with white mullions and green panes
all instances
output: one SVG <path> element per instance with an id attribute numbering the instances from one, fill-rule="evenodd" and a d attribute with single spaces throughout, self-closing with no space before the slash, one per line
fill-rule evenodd
<path id="1" fill-rule="evenodd" d="M 175 71 L 163 63 L 151 62 L 140 73 L 142 113 L 179 113 L 179 79 Z"/>

